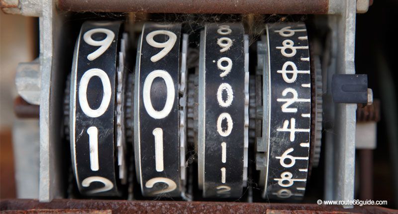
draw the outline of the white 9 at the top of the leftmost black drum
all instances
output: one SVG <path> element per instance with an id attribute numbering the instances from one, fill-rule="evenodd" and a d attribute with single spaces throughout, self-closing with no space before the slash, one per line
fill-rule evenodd
<path id="1" fill-rule="evenodd" d="M 101 41 L 96 41 L 91 37 L 95 33 L 104 33 L 104 34 L 106 34 L 106 37 Z M 83 40 L 89 45 L 101 46 L 95 52 L 89 54 L 87 56 L 87 59 L 90 61 L 93 61 L 93 60 L 97 59 L 98 57 L 100 57 L 103 54 L 103 52 L 105 52 L 106 49 L 109 48 L 110 44 L 112 44 L 112 41 L 114 38 L 115 38 L 115 34 L 111 30 L 108 30 L 105 28 L 96 28 L 96 29 L 87 31 L 83 35 Z"/>

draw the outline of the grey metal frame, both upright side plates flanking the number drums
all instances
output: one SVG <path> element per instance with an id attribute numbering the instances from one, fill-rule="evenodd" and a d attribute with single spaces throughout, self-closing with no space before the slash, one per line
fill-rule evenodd
<path id="1" fill-rule="evenodd" d="M 63 74 L 62 28 L 65 15 L 58 15 L 58 0 L 2 0 L 2 9 L 8 13 L 40 16 L 40 184 L 39 199 L 50 202 L 62 194 L 62 167 L 60 165 L 60 111 L 62 105 Z M 6 3 L 12 2 L 11 5 Z M 363 0 L 358 1 L 363 6 Z M 329 0 L 329 26 L 335 41 L 332 43 L 331 64 L 328 76 L 333 73 L 355 73 L 355 16 L 356 0 Z M 369 1 L 368 5 L 369 5 Z M 366 3 L 366 1 L 365 1 Z M 33 8 L 33 9 L 29 9 Z M 26 10 L 25 10 L 26 9 Z M 29 9 L 29 10 L 28 10 Z M 367 9 L 367 8 L 365 8 Z M 361 7 L 361 11 L 365 10 Z M 24 12 L 27 11 L 27 12 Z M 246 11 L 247 12 L 247 11 Z M 275 11 L 276 13 L 278 11 Z M 337 42 L 336 42 L 337 41 Z M 59 55 L 58 55 L 59 54 Z M 326 66 L 323 65 L 323 69 Z M 324 96 L 325 106 L 331 113 L 327 118 L 335 123 L 326 133 L 325 199 L 352 200 L 354 198 L 355 124 L 356 104 L 334 104 L 330 84 Z"/>

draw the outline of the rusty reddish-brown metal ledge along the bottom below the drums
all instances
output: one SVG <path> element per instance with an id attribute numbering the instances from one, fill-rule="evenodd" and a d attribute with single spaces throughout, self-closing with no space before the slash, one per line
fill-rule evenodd
<path id="1" fill-rule="evenodd" d="M 54 199 L 50 203 L 37 200 L 10 199 L 0 202 L 0 211 L 62 209 L 62 210 L 110 210 L 112 213 L 286 213 L 295 211 L 300 214 L 360 213 L 393 214 L 390 210 L 375 206 L 343 209 L 341 206 L 319 206 L 316 204 L 270 204 L 270 203 L 234 203 L 234 202 L 183 202 L 183 201 L 118 201 L 118 200 L 70 200 Z M 298 212 L 300 211 L 300 212 Z"/>

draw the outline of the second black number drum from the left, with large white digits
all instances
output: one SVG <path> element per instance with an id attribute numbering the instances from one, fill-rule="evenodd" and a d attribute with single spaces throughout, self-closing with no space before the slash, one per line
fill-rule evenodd
<path id="1" fill-rule="evenodd" d="M 185 191 L 185 135 L 180 125 L 186 119 L 179 100 L 186 99 L 180 84 L 186 82 L 186 60 L 180 61 L 186 54 L 180 53 L 181 47 L 186 53 L 188 40 L 183 37 L 181 45 L 181 24 L 145 24 L 139 41 L 134 149 L 144 196 L 179 197 Z"/>

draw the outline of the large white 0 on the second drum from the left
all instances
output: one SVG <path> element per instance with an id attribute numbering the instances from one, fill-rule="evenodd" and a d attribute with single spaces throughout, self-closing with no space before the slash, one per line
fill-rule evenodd
<path id="1" fill-rule="evenodd" d="M 166 83 L 166 89 L 167 89 L 166 104 L 163 110 L 161 111 L 156 111 L 153 108 L 151 102 L 151 85 L 156 77 L 163 78 L 163 80 Z M 167 71 L 155 70 L 150 72 L 148 76 L 145 78 L 143 94 L 142 94 L 144 99 L 144 106 L 148 114 L 155 119 L 162 119 L 167 117 L 167 115 L 169 115 L 170 111 L 173 108 L 174 96 L 175 96 L 174 92 L 175 89 L 174 89 L 173 78 L 170 76 L 170 74 Z"/>

